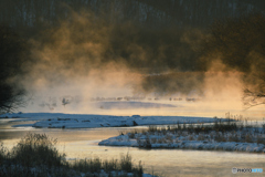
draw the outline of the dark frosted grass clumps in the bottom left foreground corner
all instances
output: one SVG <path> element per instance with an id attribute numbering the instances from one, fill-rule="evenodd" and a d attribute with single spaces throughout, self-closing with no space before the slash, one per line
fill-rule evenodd
<path id="1" fill-rule="evenodd" d="M 68 163 L 55 148 L 56 139 L 28 134 L 8 150 L 0 144 L 0 176 L 148 176 L 141 163 L 135 166 L 129 154 L 119 160 L 99 158 Z"/>

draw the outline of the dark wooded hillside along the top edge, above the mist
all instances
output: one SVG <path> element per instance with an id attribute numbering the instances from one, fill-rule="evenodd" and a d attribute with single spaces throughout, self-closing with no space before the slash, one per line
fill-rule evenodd
<path id="1" fill-rule="evenodd" d="M 204 28 L 215 19 L 265 12 L 263 0 L 1 0 L 0 22 L 11 27 L 56 24 L 72 10 L 93 11 L 110 22 L 135 21 L 150 27 Z"/>

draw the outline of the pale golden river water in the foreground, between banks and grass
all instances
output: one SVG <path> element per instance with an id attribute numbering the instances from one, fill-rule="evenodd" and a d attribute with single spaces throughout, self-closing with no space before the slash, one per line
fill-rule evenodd
<path id="1" fill-rule="evenodd" d="M 57 148 L 67 155 L 68 160 L 82 158 L 119 159 L 121 154 L 129 153 L 135 164 L 144 164 L 145 173 L 160 176 L 235 176 L 232 168 L 263 168 L 265 170 L 265 155 L 236 152 L 209 152 L 188 149 L 139 149 L 135 147 L 98 146 L 98 142 L 119 132 L 131 128 L 146 127 L 109 127 L 83 129 L 51 129 L 19 127 L 12 125 L 30 124 L 32 122 L 0 121 L 0 140 L 11 148 L 28 132 L 47 134 L 57 138 Z M 237 174 L 239 176 L 264 176 L 262 174 Z"/>

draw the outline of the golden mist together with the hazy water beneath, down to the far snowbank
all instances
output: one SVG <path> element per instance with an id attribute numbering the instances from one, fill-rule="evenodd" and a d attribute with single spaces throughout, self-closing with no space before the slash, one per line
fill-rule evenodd
<path id="1" fill-rule="evenodd" d="M 149 29 L 73 12 L 31 39 L 33 60 L 21 80 L 30 94 L 22 111 L 252 116 L 243 111 L 245 72 L 224 64 L 222 54 L 198 54 L 208 38 L 199 29 Z"/>

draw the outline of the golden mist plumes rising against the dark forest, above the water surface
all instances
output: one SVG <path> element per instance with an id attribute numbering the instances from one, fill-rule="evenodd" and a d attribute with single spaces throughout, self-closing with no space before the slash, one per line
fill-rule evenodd
<path id="1" fill-rule="evenodd" d="M 246 18 L 246 27 L 253 27 L 255 17 Z M 225 20 L 209 30 L 153 28 L 71 10 L 66 19 L 30 38 L 31 60 L 23 65 L 28 72 L 15 81 L 29 93 L 31 111 L 41 105 L 56 112 L 60 105 L 57 111 L 88 113 L 95 107 L 87 102 L 95 97 L 124 96 L 195 97 L 197 107 L 241 110 L 244 88 L 259 85 L 253 73 L 261 73 L 264 53 L 258 48 L 263 41 L 256 45 L 248 40 L 263 35 L 261 29 L 244 41 L 247 30 L 239 30 L 239 19 L 231 28 Z M 233 37 L 233 30 L 240 35 Z M 241 52 L 241 46 L 250 50 Z"/>

